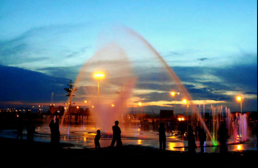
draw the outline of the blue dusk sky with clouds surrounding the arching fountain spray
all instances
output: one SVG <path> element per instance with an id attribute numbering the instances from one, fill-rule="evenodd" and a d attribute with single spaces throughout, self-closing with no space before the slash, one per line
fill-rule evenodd
<path id="1" fill-rule="evenodd" d="M 126 26 L 155 48 L 196 104 L 237 111 L 241 95 L 243 111 L 257 111 L 257 1 L 2 0 L 0 25 L 0 107 L 62 104 L 63 88 L 101 39 Z M 169 84 L 142 79 L 137 88 L 135 102 L 146 111 L 173 107 Z"/>

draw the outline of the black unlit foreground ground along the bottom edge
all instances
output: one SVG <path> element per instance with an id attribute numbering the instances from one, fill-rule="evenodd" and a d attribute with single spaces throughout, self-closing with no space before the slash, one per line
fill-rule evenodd
<path id="1" fill-rule="evenodd" d="M 50 143 L 0 138 L 0 167 L 257 167 L 257 151 L 161 152 L 151 147 L 56 149 Z M 67 147 L 70 144 L 62 144 Z"/>

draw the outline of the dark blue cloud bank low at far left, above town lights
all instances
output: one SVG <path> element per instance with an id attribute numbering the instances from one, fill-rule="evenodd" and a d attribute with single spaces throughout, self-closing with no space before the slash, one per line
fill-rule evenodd
<path id="1" fill-rule="evenodd" d="M 0 82 L 4 84 L 0 93 L 1 102 L 49 102 L 52 92 L 54 101 L 67 100 L 64 88 L 69 79 L 55 78 L 17 67 L 0 66 L 0 71 Z"/>

